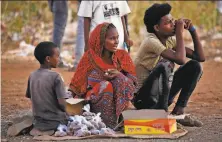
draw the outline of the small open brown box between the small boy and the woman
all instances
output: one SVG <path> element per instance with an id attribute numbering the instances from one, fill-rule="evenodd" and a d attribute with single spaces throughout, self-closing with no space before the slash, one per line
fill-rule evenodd
<path id="1" fill-rule="evenodd" d="M 69 115 L 82 114 L 82 108 L 84 107 L 84 99 L 66 99 L 66 112 Z"/>

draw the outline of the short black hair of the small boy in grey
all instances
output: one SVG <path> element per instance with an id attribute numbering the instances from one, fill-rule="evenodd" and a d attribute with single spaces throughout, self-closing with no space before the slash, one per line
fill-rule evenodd
<path id="1" fill-rule="evenodd" d="M 34 51 L 35 58 L 39 61 L 40 64 L 44 64 L 46 56 L 53 55 L 53 48 L 57 48 L 58 46 L 50 41 L 40 42 Z"/>

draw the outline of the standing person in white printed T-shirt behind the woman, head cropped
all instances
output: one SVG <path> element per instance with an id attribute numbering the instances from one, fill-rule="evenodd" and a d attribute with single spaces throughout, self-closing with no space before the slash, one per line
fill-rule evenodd
<path id="1" fill-rule="evenodd" d="M 115 25 L 119 33 L 119 49 L 133 45 L 126 30 L 124 15 L 130 13 L 126 1 L 82 1 L 78 16 L 84 17 L 84 39 L 85 51 L 88 50 L 88 39 L 90 32 L 100 23 L 110 22 Z"/>

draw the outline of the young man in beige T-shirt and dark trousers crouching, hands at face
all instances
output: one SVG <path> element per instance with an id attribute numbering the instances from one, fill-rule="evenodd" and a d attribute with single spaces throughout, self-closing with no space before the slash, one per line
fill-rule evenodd
<path id="1" fill-rule="evenodd" d="M 173 103 L 179 91 L 174 115 L 184 114 L 184 108 L 202 74 L 199 62 L 205 57 L 197 31 L 190 20 L 176 22 L 170 15 L 169 4 L 154 4 L 145 12 L 144 23 L 148 36 L 135 58 L 139 89 L 134 104 L 138 109 L 165 109 Z M 193 39 L 194 50 L 184 46 L 183 31 Z M 172 36 L 176 35 L 176 39 Z M 186 62 L 185 58 L 191 58 Z M 181 65 L 171 75 L 174 63 Z M 172 78 L 173 77 L 173 78 Z M 169 81 L 172 81 L 170 87 Z"/>

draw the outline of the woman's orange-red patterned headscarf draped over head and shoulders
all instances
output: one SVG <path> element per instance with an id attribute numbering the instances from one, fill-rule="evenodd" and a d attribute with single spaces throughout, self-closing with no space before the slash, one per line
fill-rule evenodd
<path id="1" fill-rule="evenodd" d="M 98 69 L 105 72 L 108 69 L 106 68 L 101 56 L 109 25 L 109 23 L 99 24 L 90 34 L 88 43 L 89 50 L 85 52 L 81 58 L 77 66 L 76 73 L 70 83 L 70 90 L 78 96 L 83 97 L 86 93 L 87 77 L 92 70 Z M 119 71 L 124 71 L 134 76 L 136 75 L 132 59 L 125 50 L 117 50 L 113 54 L 112 60 L 114 67 Z"/>

